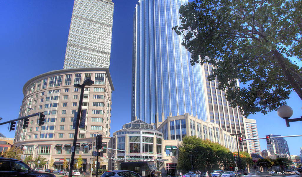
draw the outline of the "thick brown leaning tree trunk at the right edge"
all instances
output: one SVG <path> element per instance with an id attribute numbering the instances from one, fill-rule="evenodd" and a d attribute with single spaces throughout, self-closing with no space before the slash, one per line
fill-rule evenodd
<path id="1" fill-rule="evenodd" d="M 272 52 L 276 57 L 279 66 L 284 73 L 284 76 L 288 79 L 288 81 L 291 83 L 291 86 L 294 88 L 294 91 L 299 95 L 300 99 L 302 100 L 302 88 L 301 85 L 299 85 L 299 82 L 296 81 L 301 80 L 301 78 L 298 78 L 297 76 L 293 76 L 291 74 L 286 63 L 284 62 L 286 59 L 281 53 L 279 53 L 277 50 L 272 50 Z"/>

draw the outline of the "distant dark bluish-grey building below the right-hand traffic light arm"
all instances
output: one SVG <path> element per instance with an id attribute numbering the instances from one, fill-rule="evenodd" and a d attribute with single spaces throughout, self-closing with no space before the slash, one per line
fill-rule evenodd
<path id="1" fill-rule="evenodd" d="M 281 135 L 271 135 L 271 137 L 280 137 Z M 284 138 L 271 138 L 271 144 L 267 144 L 267 149 L 271 155 L 275 154 L 288 154 L 289 148 L 287 141 Z"/>

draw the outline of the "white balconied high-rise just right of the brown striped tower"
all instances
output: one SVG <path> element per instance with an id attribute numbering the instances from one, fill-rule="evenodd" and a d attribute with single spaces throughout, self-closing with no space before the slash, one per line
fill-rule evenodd
<path id="1" fill-rule="evenodd" d="M 246 122 L 246 135 L 247 138 L 259 138 L 256 120 L 245 119 Z M 256 153 L 261 155 L 259 140 L 248 140 L 247 145 L 249 146 L 249 153 Z"/>

